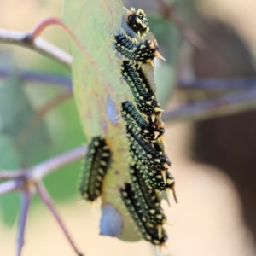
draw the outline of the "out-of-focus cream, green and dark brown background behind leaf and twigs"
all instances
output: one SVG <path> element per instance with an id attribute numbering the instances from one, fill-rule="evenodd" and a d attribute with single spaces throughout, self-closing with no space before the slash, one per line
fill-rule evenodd
<path id="1" fill-rule="evenodd" d="M 184 88 L 184 84 L 193 84 L 197 79 L 211 78 L 214 82 L 214 79 L 256 77 L 255 1 L 166 3 L 206 47 L 195 47 L 183 38 L 177 27 L 163 16 L 159 1 L 124 2 L 129 9 L 145 10 L 160 44 L 160 53 L 166 57 L 166 63 L 155 62 L 158 97 L 166 108 L 230 92 L 229 88 Z M 41 20 L 60 15 L 59 0 L 0 1 L 0 28 L 6 30 L 28 32 Z M 67 36 L 60 28 L 49 27 L 43 37 L 68 51 Z M 24 75 L 27 71 L 51 73 L 66 80 L 70 77 L 66 67 L 32 50 L 0 44 L 1 170 L 32 166 L 86 143 L 70 94 L 55 84 L 28 82 L 29 75 Z M 241 87 L 246 90 L 247 84 Z M 35 114 L 38 119 L 31 122 Z M 164 205 L 170 225 L 166 227 L 169 240 L 163 255 L 256 254 L 255 120 L 256 113 L 245 110 L 221 118 L 166 122 L 167 154 L 172 160 L 179 203 L 172 202 L 171 208 Z M 79 200 L 76 189 L 80 166 L 77 162 L 44 178 L 80 250 L 94 256 L 155 255 L 154 247 L 148 242 L 125 243 L 98 235 L 100 205 L 91 210 Z M 18 194 L 0 196 L 0 255 L 15 254 L 19 207 Z M 74 255 L 37 196 L 29 212 L 23 255 Z"/>

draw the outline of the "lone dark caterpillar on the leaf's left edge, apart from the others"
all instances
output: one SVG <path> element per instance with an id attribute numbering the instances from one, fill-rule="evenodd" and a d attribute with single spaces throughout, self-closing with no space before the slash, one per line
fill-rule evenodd
<path id="1" fill-rule="evenodd" d="M 87 201 L 95 201 L 102 192 L 102 180 L 108 171 L 111 151 L 101 137 L 93 137 L 88 146 L 79 191 Z"/>

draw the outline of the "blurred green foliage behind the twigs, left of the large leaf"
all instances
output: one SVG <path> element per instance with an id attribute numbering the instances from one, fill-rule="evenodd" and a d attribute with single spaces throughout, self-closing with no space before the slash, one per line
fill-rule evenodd
<path id="1" fill-rule="evenodd" d="M 59 72 L 60 68 L 56 68 L 56 73 Z M 51 110 L 38 125 L 28 125 L 40 105 L 63 92 L 63 89 L 50 84 L 37 85 L 21 83 L 15 72 L 1 81 L 1 170 L 32 166 L 85 142 L 73 99 Z M 25 137 L 21 136 L 22 143 L 20 134 L 25 134 Z M 45 177 L 45 184 L 55 201 L 63 201 L 76 195 L 79 170 L 80 162 L 76 162 Z M 38 201 L 38 197 L 34 201 Z M 19 207 L 18 193 L 0 197 L 1 215 L 6 224 L 14 222 Z"/>

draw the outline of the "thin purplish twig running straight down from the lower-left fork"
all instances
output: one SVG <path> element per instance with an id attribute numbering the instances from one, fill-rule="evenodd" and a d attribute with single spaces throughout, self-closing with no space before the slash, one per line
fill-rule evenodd
<path id="1" fill-rule="evenodd" d="M 28 208 L 30 206 L 32 199 L 32 191 L 26 189 L 21 194 L 21 209 L 20 209 L 20 222 L 18 226 L 18 237 L 17 237 L 17 256 L 21 255 L 21 250 L 24 245 L 24 236 L 25 236 L 25 228 L 26 228 L 26 219 Z"/>

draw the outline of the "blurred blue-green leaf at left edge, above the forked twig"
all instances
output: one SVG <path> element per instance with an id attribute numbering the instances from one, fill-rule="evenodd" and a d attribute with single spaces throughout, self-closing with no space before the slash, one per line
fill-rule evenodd
<path id="1" fill-rule="evenodd" d="M 43 122 L 36 125 L 35 114 L 18 76 L 12 73 L 0 83 L 1 134 L 13 140 L 21 156 L 22 167 L 43 160 L 49 146 L 46 127 Z M 1 160 L 3 158 L 0 157 Z"/>

